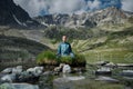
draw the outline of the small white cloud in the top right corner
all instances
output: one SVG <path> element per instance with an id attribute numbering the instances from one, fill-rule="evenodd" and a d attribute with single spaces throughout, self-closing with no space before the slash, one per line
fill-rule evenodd
<path id="1" fill-rule="evenodd" d="M 133 0 L 122 0 L 122 9 L 133 12 Z"/>

